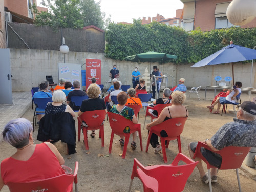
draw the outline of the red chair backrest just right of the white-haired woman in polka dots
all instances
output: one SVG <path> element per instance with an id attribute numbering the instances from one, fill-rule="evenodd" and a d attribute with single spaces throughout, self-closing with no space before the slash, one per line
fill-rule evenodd
<path id="1" fill-rule="evenodd" d="M 86 111 L 78 117 L 82 122 L 86 122 L 88 127 L 99 127 L 103 120 L 105 119 L 106 111 L 105 110 L 94 110 Z"/>

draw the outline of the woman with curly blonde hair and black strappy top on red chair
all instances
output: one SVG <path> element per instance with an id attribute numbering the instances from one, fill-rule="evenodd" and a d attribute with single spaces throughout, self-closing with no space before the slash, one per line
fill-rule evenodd
<path id="1" fill-rule="evenodd" d="M 146 125 L 146 129 L 150 130 L 152 126 L 158 125 L 163 121 L 166 121 L 168 119 L 172 118 L 178 118 L 178 117 L 188 117 L 188 111 L 185 106 L 182 104 L 186 100 L 186 94 L 184 94 L 181 91 L 175 91 L 172 93 L 172 106 L 168 106 L 163 109 L 159 117 L 152 123 L 149 123 Z M 162 137 L 167 137 L 167 133 L 162 130 L 161 131 L 161 136 Z M 158 137 L 156 134 L 152 134 L 150 138 L 150 144 L 152 145 L 153 148 L 155 148 L 155 153 L 158 153 L 162 150 L 161 145 L 158 142 Z"/>

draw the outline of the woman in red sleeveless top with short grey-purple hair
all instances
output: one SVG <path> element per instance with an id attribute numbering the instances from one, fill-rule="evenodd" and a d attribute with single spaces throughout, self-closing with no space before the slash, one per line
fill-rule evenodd
<path id="1" fill-rule="evenodd" d="M 64 159 L 49 143 L 33 144 L 32 125 L 25 118 L 11 120 L 5 126 L 3 139 L 17 151 L 0 165 L 0 190 L 8 182 L 24 183 L 65 174 Z"/>

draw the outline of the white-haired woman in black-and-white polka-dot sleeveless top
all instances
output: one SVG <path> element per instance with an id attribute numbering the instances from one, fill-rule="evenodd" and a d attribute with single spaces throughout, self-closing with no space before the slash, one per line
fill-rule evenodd
<path id="1" fill-rule="evenodd" d="M 63 104 L 63 102 L 66 100 L 66 95 L 61 90 L 56 90 L 53 92 L 52 95 L 52 101 L 49 102 L 45 109 L 45 114 L 55 114 L 55 113 L 61 113 L 61 112 L 69 112 L 72 117 L 75 117 L 76 114 L 72 110 L 72 108 L 69 105 Z"/>

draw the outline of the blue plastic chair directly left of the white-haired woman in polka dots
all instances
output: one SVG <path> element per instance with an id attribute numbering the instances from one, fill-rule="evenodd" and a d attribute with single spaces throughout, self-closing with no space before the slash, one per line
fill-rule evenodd
<path id="1" fill-rule="evenodd" d="M 33 116 L 33 132 L 34 132 L 34 125 L 36 124 L 36 116 L 45 115 L 46 105 L 47 103 L 52 102 L 52 98 L 51 97 L 34 98 L 33 101 L 35 103 L 35 111 Z"/>

